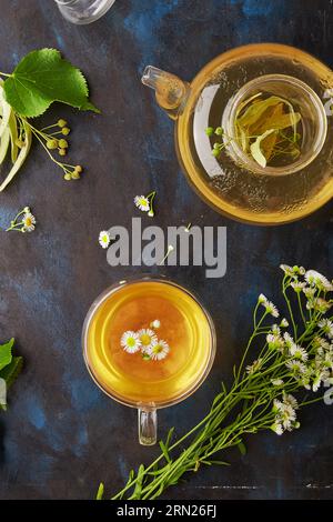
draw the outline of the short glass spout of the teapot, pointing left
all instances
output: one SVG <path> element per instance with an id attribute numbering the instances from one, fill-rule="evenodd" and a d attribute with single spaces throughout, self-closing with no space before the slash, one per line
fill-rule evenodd
<path id="1" fill-rule="evenodd" d="M 141 81 L 144 86 L 155 90 L 159 106 L 167 111 L 172 120 L 176 120 L 186 103 L 190 84 L 176 76 L 152 66 L 144 69 Z"/>

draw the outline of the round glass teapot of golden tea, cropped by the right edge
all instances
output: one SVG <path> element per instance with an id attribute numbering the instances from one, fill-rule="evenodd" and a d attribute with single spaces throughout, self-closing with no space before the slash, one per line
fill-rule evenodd
<path id="1" fill-rule="evenodd" d="M 333 195 L 333 72 L 299 49 L 259 43 L 208 63 L 191 83 L 147 67 L 142 82 L 175 120 L 175 145 L 190 184 L 216 211 L 248 223 L 281 224 L 314 212 Z M 236 139 L 249 100 L 280 97 L 301 114 L 300 153 L 262 165 Z M 220 129 L 223 150 L 214 155 Z M 215 131 L 215 132 L 216 132 Z"/>

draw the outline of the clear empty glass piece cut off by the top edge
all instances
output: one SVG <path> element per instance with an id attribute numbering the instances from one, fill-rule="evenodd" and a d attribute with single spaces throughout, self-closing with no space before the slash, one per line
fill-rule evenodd
<path id="1" fill-rule="evenodd" d="M 115 0 L 56 0 L 56 2 L 68 21 L 85 24 L 103 17 Z"/>

